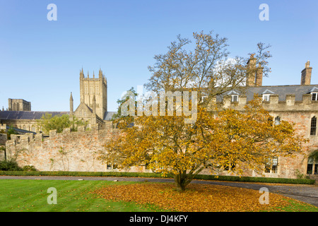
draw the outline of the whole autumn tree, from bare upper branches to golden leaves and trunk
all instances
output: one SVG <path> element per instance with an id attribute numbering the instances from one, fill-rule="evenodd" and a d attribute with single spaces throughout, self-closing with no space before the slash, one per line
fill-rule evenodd
<path id="1" fill-rule="evenodd" d="M 212 97 L 242 87 L 247 75 L 255 71 L 243 57 L 228 58 L 225 38 L 201 32 L 194 33 L 194 40 L 194 51 L 185 48 L 190 40 L 178 36 L 167 54 L 156 55 L 155 66 L 149 67 L 152 76 L 146 88 L 155 93 L 187 90 L 190 98 L 182 99 L 182 109 L 186 104 L 193 106 L 194 93 L 198 93 L 196 121 L 186 123 L 189 115 L 185 114 L 163 116 L 160 109 L 156 115 L 135 115 L 135 126 L 114 133 L 100 159 L 116 162 L 119 168 L 148 165 L 154 172 L 173 174 L 177 187 L 184 191 L 206 168 L 240 174 L 245 166 L 261 173 L 273 157 L 300 153 L 305 140 L 295 136 L 293 126 L 286 121 L 274 125 L 257 97 L 241 112 L 217 108 L 211 111 L 211 106 L 207 109 Z M 253 54 L 263 68 L 271 57 L 269 52 L 263 54 L 267 47 L 259 44 L 258 54 Z M 202 93 L 207 100 L 200 101 Z M 169 104 L 164 102 L 167 113 Z"/>

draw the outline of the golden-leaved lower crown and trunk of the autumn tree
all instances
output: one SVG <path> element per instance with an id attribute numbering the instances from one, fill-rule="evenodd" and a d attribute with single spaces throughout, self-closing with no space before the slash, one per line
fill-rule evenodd
<path id="1" fill-rule="evenodd" d="M 119 168 L 148 165 L 154 172 L 173 174 L 182 191 L 203 169 L 242 174 L 244 166 L 262 174 L 266 162 L 301 153 L 305 142 L 287 121 L 273 124 L 259 99 L 242 112 L 199 107 L 196 124 L 177 116 L 143 116 L 135 122 L 110 138 L 100 158 Z"/>

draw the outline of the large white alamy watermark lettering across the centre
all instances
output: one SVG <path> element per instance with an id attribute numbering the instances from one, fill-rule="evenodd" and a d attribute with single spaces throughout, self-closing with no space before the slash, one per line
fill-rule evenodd
<path id="1" fill-rule="evenodd" d="M 127 98 L 121 106 L 122 116 L 158 116 L 158 107 L 160 116 L 176 116 L 189 117 L 184 119 L 185 124 L 194 124 L 197 118 L 198 95 L 196 91 L 161 91 L 159 95 L 155 92 L 147 92 L 143 94 L 143 86 L 137 86 L 137 111 L 135 108 L 136 96 L 132 91 L 127 91 L 122 95 Z M 166 102 L 167 100 L 167 102 Z M 174 101 L 176 100 L 176 101 Z M 189 108 L 191 102 L 191 109 Z M 166 104 L 167 103 L 167 104 Z M 174 105 L 175 103 L 175 105 Z M 175 107 L 174 107 L 175 106 Z M 166 109 L 167 107 L 167 109 Z"/>

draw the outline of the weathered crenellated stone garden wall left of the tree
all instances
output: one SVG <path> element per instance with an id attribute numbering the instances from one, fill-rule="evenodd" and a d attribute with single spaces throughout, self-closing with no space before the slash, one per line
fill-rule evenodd
<path id="1" fill-rule="evenodd" d="M 98 151 L 114 132 L 98 128 L 85 131 L 81 127 L 76 132 L 50 131 L 49 137 L 43 137 L 42 133 L 13 136 L 6 143 L 7 157 L 15 159 L 20 167 L 33 165 L 40 171 L 104 172 L 107 165 L 97 159 Z"/>

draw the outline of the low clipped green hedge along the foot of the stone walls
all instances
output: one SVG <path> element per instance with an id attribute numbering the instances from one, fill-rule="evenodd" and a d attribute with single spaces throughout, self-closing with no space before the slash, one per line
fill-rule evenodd
<path id="1" fill-rule="evenodd" d="M 6 176 L 73 176 L 73 177 L 160 177 L 162 174 L 152 172 L 69 172 L 69 171 L 0 171 L 0 175 Z M 166 178 L 172 178 L 168 174 Z M 261 182 L 280 184 L 314 184 L 314 179 L 290 179 L 271 177 L 237 177 L 199 174 L 194 179 L 217 180 L 229 182 Z"/>

